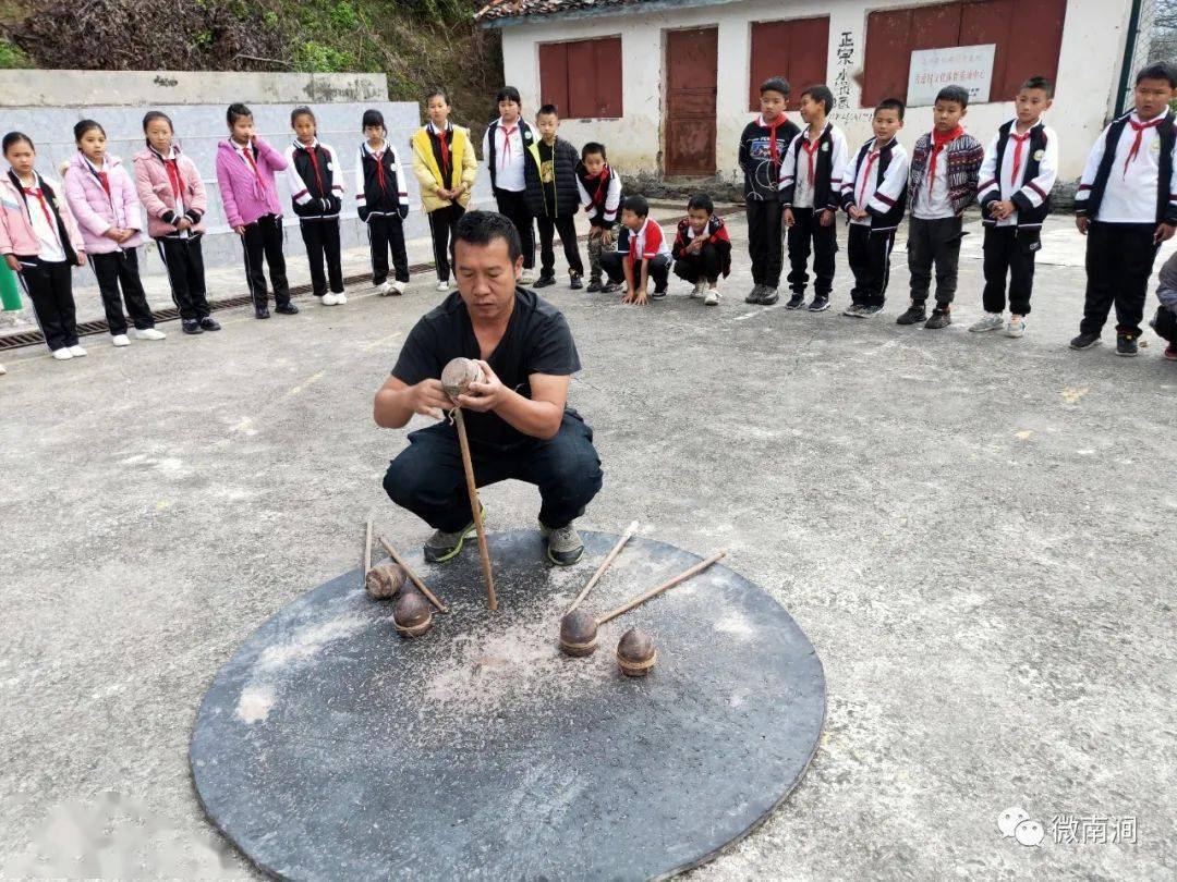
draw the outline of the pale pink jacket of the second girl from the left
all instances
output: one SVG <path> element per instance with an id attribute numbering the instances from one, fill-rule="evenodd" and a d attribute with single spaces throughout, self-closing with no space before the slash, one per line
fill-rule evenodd
<path id="1" fill-rule="evenodd" d="M 81 227 L 81 238 L 89 254 L 111 254 L 119 249 L 129 250 L 144 243 L 142 206 L 135 195 L 131 175 L 115 156 L 106 156 L 102 166 L 111 194 L 102 188 L 94 167 L 79 151 L 66 169 L 66 200 Z M 112 227 L 133 229 L 135 234 L 119 245 L 105 233 Z"/>

